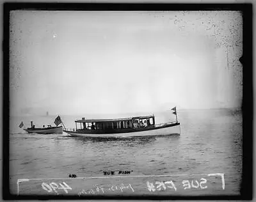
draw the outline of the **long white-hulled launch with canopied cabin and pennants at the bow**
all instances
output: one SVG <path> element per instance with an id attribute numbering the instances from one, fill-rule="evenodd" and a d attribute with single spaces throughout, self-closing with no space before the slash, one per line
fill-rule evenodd
<path id="1" fill-rule="evenodd" d="M 82 118 L 76 120 L 76 129 L 65 128 L 63 131 L 76 137 L 142 137 L 142 136 L 168 136 L 180 135 L 180 123 L 177 120 L 176 107 L 173 114 L 176 121 L 155 124 L 155 117 L 136 116 L 131 118 L 118 118 L 96 120 Z M 79 128 L 77 128 L 77 125 Z"/>

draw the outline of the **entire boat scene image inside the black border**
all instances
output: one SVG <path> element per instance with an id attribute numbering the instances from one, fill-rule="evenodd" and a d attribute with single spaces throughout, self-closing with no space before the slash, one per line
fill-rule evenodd
<path id="1" fill-rule="evenodd" d="M 243 13 L 10 11 L 10 192 L 239 196 Z"/>

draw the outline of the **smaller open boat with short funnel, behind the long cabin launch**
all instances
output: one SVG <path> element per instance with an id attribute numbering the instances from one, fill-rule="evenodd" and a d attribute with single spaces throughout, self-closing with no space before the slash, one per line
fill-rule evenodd
<path id="1" fill-rule="evenodd" d="M 38 134 L 62 134 L 63 133 L 63 127 L 62 125 L 58 127 L 58 125 L 60 125 L 60 123 L 62 123 L 60 116 L 58 116 L 54 123 L 56 124 L 56 127 L 51 126 L 51 125 L 47 125 L 47 127 L 45 127 L 43 125 L 42 128 L 36 128 L 35 125 L 33 125 L 33 121 L 31 121 L 31 127 L 30 128 L 24 128 L 23 130 L 25 130 L 28 133 L 38 133 Z M 22 128 L 24 126 L 23 122 L 20 123 L 20 128 Z"/>

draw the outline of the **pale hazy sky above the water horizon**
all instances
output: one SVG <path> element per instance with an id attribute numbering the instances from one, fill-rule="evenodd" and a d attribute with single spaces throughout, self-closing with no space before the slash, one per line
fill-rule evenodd
<path id="1" fill-rule="evenodd" d="M 239 12 L 10 15 L 11 114 L 237 107 Z"/>

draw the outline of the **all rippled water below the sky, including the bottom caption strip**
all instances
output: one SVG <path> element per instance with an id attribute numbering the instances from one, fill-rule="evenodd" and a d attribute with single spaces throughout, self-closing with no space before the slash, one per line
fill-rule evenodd
<path id="1" fill-rule="evenodd" d="M 74 118 L 79 117 L 61 118 L 66 127 L 74 127 Z M 239 194 L 241 111 L 179 111 L 181 136 L 168 137 L 84 139 L 67 137 L 65 133 L 26 134 L 18 127 L 21 120 L 24 123 L 35 120 L 40 125 L 49 119 L 54 117 L 10 118 L 13 193 L 17 193 L 18 179 L 68 178 L 20 182 L 19 194 Z M 211 173 L 224 174 L 225 189 L 220 176 L 207 176 Z M 69 178 L 69 175 L 77 177 Z M 115 178 L 91 178 L 109 176 Z M 54 191 L 52 187 L 58 188 Z M 52 192 L 48 192 L 50 189 Z"/>

